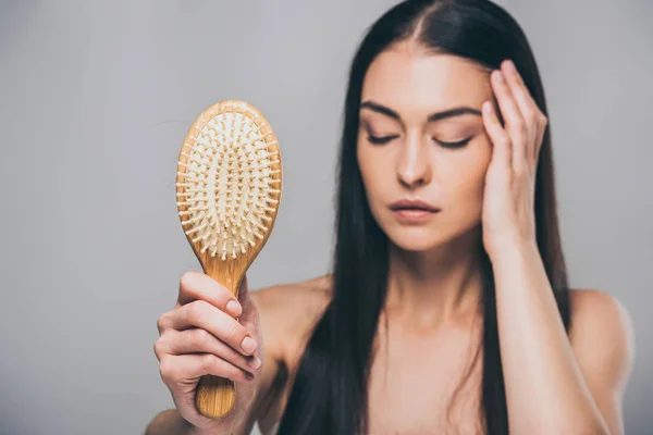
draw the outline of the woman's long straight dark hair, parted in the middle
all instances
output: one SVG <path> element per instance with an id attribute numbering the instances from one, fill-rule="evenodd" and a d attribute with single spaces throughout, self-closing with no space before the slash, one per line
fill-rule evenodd
<path id="1" fill-rule="evenodd" d="M 304 351 L 279 427 L 282 435 L 349 435 L 368 430 L 368 377 L 385 302 L 389 241 L 370 212 L 356 160 L 362 83 L 372 60 L 398 41 L 498 69 L 510 59 L 547 115 L 535 60 L 517 22 L 489 0 L 407 0 L 369 28 L 350 66 L 337 166 L 333 294 Z M 558 232 L 551 127 L 535 181 L 537 241 L 565 327 L 569 291 Z M 508 418 L 498 347 L 494 279 L 484 253 L 480 417 L 489 434 L 507 434 Z"/>

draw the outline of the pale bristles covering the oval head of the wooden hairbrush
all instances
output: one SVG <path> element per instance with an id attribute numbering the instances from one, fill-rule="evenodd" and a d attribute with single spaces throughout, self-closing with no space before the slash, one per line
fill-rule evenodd
<path id="1" fill-rule="evenodd" d="M 182 149 L 177 207 L 200 252 L 235 259 L 270 229 L 280 198 L 279 148 L 266 137 L 271 128 L 235 104 L 209 116 Z"/>

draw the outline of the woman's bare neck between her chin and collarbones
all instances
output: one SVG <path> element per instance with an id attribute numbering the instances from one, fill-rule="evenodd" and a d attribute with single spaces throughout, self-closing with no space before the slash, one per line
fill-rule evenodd
<path id="1" fill-rule="evenodd" d="M 428 330 L 473 319 L 482 295 L 480 246 L 477 231 L 423 252 L 391 244 L 385 315 Z"/>

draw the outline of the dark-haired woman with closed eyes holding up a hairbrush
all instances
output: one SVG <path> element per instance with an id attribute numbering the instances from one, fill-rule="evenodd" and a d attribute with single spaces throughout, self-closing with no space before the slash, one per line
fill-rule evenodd
<path id="1" fill-rule="evenodd" d="M 338 171 L 331 275 L 244 283 L 238 301 L 182 277 L 155 347 L 176 410 L 148 433 L 623 433 L 630 322 L 567 286 L 542 84 L 503 9 L 408 0 L 379 18 Z M 207 373 L 238 383 L 224 420 L 193 407 Z"/>

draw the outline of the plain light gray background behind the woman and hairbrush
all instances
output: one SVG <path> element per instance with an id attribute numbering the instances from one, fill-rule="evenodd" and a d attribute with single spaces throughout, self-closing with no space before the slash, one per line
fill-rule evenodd
<path id="1" fill-rule="evenodd" d="M 198 264 L 176 157 L 206 107 L 272 123 L 284 201 L 252 288 L 324 273 L 345 78 L 393 0 L 2 1 L 0 433 L 138 434 L 172 400 L 156 320 Z M 546 87 L 571 284 L 637 333 L 628 433 L 653 418 L 653 2 L 503 1 Z"/>

